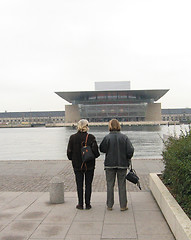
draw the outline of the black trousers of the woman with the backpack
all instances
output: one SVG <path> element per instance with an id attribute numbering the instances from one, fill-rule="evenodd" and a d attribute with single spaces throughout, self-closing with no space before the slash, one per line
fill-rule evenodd
<path id="1" fill-rule="evenodd" d="M 76 186 L 78 193 L 78 204 L 84 204 L 84 178 L 85 178 L 85 204 L 90 204 L 91 193 L 92 193 L 92 181 L 94 177 L 94 169 L 87 170 L 86 172 L 74 171 L 76 177 Z"/>

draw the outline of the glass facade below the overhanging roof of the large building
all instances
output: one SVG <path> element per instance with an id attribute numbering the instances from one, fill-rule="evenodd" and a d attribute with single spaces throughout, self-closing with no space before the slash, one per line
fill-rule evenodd
<path id="1" fill-rule="evenodd" d="M 80 117 L 90 122 L 107 122 L 112 118 L 119 121 L 145 121 L 146 103 L 140 104 L 96 104 L 79 105 Z"/>

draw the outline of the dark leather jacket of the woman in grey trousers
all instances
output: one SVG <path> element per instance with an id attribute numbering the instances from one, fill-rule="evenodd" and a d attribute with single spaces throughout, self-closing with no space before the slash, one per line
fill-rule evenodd
<path id="1" fill-rule="evenodd" d="M 100 151 L 105 153 L 106 168 L 128 168 L 134 147 L 125 134 L 112 131 L 102 140 Z"/>

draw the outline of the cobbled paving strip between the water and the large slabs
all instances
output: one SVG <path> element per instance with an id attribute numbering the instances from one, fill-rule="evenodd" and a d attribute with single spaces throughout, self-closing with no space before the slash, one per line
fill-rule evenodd
<path id="1" fill-rule="evenodd" d="M 141 179 L 142 191 L 150 191 L 148 174 L 161 172 L 163 163 L 160 159 L 135 159 L 133 160 L 133 167 Z M 0 191 L 47 192 L 49 182 L 54 176 L 59 176 L 64 181 L 65 191 L 76 191 L 73 169 L 69 160 L 0 161 Z M 131 192 L 140 191 L 133 184 L 128 184 L 127 188 Z M 97 160 L 96 162 L 93 191 L 106 191 L 103 160 Z"/>

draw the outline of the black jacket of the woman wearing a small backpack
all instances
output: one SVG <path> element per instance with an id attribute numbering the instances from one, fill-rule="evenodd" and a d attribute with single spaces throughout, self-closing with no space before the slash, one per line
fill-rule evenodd
<path id="1" fill-rule="evenodd" d="M 77 132 L 70 136 L 67 148 L 67 156 L 69 160 L 72 160 L 72 166 L 75 171 L 81 170 L 82 156 L 81 148 L 86 140 L 87 132 Z M 98 145 L 94 135 L 88 134 L 87 145 L 91 146 L 95 158 L 99 157 L 100 153 Z M 87 170 L 95 168 L 95 159 L 86 163 Z"/>

